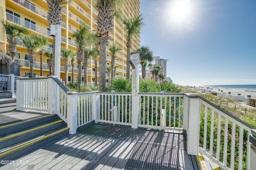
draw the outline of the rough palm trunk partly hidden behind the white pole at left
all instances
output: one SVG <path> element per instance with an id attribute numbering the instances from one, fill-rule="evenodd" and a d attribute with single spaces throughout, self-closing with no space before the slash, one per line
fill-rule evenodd
<path id="1" fill-rule="evenodd" d="M 48 5 L 49 11 L 47 15 L 47 20 L 48 20 L 48 26 L 50 25 L 57 25 L 62 23 L 62 8 L 64 8 L 64 4 L 68 3 L 68 0 L 46 0 L 46 3 Z M 52 37 L 53 39 L 53 59 L 52 59 L 52 74 L 54 75 L 54 59 L 55 59 L 55 37 Z"/>

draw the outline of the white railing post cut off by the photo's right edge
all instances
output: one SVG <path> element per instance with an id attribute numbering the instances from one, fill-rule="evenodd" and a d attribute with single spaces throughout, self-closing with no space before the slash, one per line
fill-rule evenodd
<path id="1" fill-rule="evenodd" d="M 252 134 L 250 135 L 250 143 L 251 143 L 251 148 L 250 148 L 250 164 L 247 169 L 253 169 L 252 167 L 256 167 L 256 129 L 252 129 Z M 247 160 L 248 161 L 248 160 Z"/>

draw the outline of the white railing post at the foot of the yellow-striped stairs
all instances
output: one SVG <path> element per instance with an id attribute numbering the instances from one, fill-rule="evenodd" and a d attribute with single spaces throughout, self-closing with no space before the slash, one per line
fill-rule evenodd
<path id="1" fill-rule="evenodd" d="M 77 92 L 68 92 L 67 96 L 67 121 L 69 134 L 76 133 L 78 127 L 77 121 Z"/>

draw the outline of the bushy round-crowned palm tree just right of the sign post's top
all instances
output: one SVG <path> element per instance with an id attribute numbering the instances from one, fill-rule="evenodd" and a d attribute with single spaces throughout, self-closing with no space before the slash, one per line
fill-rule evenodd
<path id="1" fill-rule="evenodd" d="M 148 62 L 150 63 L 154 59 L 153 51 L 151 51 L 148 46 L 141 46 L 137 49 L 137 51 L 140 53 L 142 78 L 144 79 L 146 77 L 146 68 L 148 66 Z"/>

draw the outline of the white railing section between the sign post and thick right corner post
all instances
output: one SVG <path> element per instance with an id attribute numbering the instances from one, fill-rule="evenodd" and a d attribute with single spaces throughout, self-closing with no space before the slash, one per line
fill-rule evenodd
<path id="1" fill-rule="evenodd" d="M 138 93 L 138 96 L 138 127 L 183 130 L 181 106 L 184 94 Z"/>

